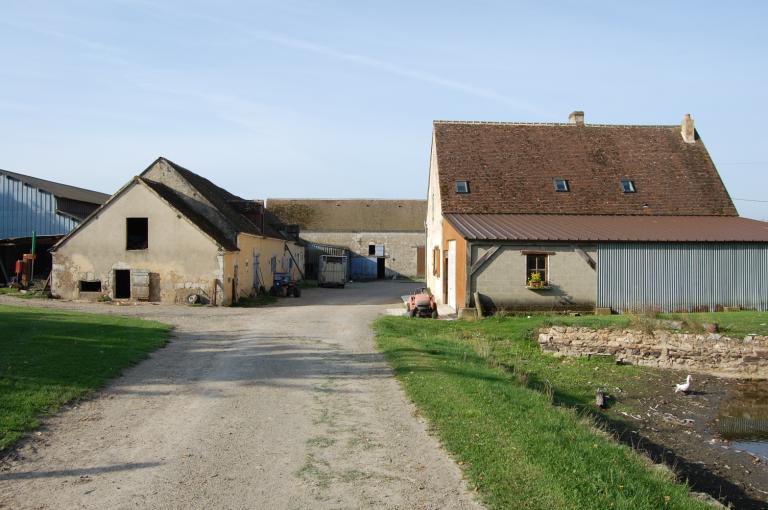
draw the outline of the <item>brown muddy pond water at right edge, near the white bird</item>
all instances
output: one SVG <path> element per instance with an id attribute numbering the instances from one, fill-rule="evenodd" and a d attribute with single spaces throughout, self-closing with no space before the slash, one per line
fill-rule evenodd
<path id="1" fill-rule="evenodd" d="M 731 448 L 768 461 L 768 381 L 737 384 L 724 399 L 717 423 Z"/>

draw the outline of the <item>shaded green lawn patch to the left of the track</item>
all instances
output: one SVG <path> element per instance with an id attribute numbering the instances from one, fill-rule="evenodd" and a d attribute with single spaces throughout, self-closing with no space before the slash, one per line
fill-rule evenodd
<path id="1" fill-rule="evenodd" d="M 158 322 L 3 305 L 0 331 L 0 450 L 170 336 Z"/>

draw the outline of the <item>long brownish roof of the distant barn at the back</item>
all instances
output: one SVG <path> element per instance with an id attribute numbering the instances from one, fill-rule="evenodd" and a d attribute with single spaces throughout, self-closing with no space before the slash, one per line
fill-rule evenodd
<path id="1" fill-rule="evenodd" d="M 267 210 L 307 232 L 424 232 L 426 200 L 267 200 Z"/>

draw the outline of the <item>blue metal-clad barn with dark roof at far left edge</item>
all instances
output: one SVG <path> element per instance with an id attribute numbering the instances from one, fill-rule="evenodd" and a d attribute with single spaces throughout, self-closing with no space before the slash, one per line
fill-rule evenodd
<path id="1" fill-rule="evenodd" d="M 32 250 L 35 276 L 48 277 L 48 249 L 80 224 L 109 195 L 0 169 L 0 282 L 8 283 L 14 263 Z"/>

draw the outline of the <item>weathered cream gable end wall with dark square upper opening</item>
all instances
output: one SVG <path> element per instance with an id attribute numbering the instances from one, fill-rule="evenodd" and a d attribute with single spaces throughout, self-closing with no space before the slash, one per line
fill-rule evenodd
<path id="1" fill-rule="evenodd" d="M 126 218 L 148 218 L 146 250 L 126 250 Z M 170 207 L 145 185 L 132 183 L 53 253 L 51 286 L 64 299 L 81 295 L 80 280 L 100 280 L 101 295 L 114 297 L 116 269 L 148 271 L 150 300 L 179 302 L 200 293 L 222 300 L 224 268 L 211 238 Z"/>

